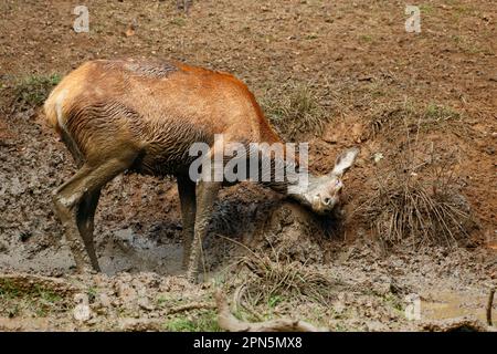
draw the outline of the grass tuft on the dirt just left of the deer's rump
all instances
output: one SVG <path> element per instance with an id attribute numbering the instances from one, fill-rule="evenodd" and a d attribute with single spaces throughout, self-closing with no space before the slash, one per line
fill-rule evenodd
<path id="1" fill-rule="evenodd" d="M 42 105 L 52 88 L 60 82 L 59 74 L 30 75 L 19 80 L 12 90 L 13 111 L 24 111 Z"/>

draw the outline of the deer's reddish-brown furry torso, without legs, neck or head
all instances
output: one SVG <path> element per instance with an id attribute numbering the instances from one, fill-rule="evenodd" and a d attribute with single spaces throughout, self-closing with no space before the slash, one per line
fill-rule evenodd
<path id="1" fill-rule="evenodd" d="M 65 92 L 61 116 L 57 97 Z M 142 173 L 175 174 L 194 142 L 279 142 L 246 85 L 233 75 L 184 64 L 92 61 L 70 73 L 45 103 L 49 123 L 65 129 L 85 160 L 119 145 L 141 156 Z M 112 138 L 109 138 L 112 137 Z"/>

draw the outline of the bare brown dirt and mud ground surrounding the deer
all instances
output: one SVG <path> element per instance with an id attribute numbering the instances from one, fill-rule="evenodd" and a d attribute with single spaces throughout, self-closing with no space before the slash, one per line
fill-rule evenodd
<path id="1" fill-rule="evenodd" d="M 247 321 L 290 316 L 332 331 L 423 331 L 462 316 L 485 322 L 497 284 L 494 1 L 424 1 L 420 33 L 405 31 L 403 1 L 204 0 L 188 15 L 176 1 L 92 1 L 89 33 L 73 31 L 73 8 L 0 3 L 0 330 L 216 331 L 219 287 L 232 303 L 242 299 L 233 311 Z M 290 96 L 295 85 L 310 87 L 326 115 L 319 132 L 303 127 L 290 136 L 272 122 L 284 137 L 309 142 L 316 173 L 329 171 L 343 148 L 361 148 L 345 180 L 343 220 L 327 232 L 324 220 L 271 190 L 246 183 L 224 189 L 204 242 L 207 279 L 190 284 L 175 180 L 124 175 L 105 188 L 96 216 L 103 273 L 75 274 L 50 202 L 74 163 L 40 103 L 12 100 L 25 77 L 113 58 L 228 71 L 263 103 Z M 403 122 L 393 121 L 408 111 L 432 119 L 415 132 L 415 148 L 450 167 L 470 206 L 474 227 L 457 244 L 385 247 L 359 212 L 359 201 L 374 195 L 378 168 L 409 148 L 399 135 Z M 283 272 L 326 277 L 326 291 L 319 299 L 304 291 L 255 296 L 256 277 L 240 261 L 251 254 L 246 248 L 277 252 Z M 415 319 L 406 312 L 413 305 Z"/>

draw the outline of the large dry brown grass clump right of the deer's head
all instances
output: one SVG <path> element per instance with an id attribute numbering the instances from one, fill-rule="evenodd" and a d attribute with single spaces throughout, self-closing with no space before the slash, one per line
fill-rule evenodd
<path id="1" fill-rule="evenodd" d="M 373 192 L 362 198 L 357 212 L 387 247 L 457 246 L 468 239 L 474 222 L 447 167 L 451 158 L 432 148 L 420 162 L 416 153 L 408 148 L 383 168 L 377 167 Z"/>

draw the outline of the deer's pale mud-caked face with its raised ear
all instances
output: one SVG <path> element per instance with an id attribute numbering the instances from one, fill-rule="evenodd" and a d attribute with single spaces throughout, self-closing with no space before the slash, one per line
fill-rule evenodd
<path id="1" fill-rule="evenodd" d="M 329 175 L 317 178 L 308 192 L 310 207 L 315 212 L 330 212 L 340 202 L 343 189 L 341 177 L 352 166 L 358 154 L 358 148 L 347 149 L 337 157 L 335 167 Z"/>

